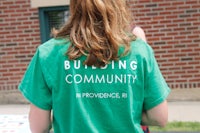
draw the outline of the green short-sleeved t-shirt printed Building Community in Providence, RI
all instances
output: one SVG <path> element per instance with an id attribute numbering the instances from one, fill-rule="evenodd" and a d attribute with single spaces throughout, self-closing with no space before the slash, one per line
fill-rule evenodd
<path id="1" fill-rule="evenodd" d="M 140 39 L 131 52 L 102 68 L 69 60 L 70 42 L 40 45 L 19 85 L 37 107 L 53 110 L 55 133 L 142 133 L 143 110 L 163 102 L 168 88 L 152 48 Z"/>

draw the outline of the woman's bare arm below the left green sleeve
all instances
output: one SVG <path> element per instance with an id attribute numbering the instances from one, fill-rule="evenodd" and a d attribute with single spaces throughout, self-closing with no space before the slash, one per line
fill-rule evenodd
<path id="1" fill-rule="evenodd" d="M 42 110 L 31 104 L 29 122 L 32 133 L 48 133 L 51 125 L 51 111 Z"/>

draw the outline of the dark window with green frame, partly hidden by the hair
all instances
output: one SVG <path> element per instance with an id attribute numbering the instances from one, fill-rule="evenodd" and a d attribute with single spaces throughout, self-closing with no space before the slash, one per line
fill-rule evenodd
<path id="1" fill-rule="evenodd" d="M 69 7 L 39 8 L 41 42 L 51 38 L 51 29 L 60 28 L 69 17 Z"/>

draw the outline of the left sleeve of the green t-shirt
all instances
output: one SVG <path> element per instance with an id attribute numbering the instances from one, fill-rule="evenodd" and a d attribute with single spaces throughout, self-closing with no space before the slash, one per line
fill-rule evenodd
<path id="1" fill-rule="evenodd" d="M 18 88 L 32 104 L 44 110 L 51 110 L 51 89 L 44 78 L 39 50 L 33 56 Z"/>

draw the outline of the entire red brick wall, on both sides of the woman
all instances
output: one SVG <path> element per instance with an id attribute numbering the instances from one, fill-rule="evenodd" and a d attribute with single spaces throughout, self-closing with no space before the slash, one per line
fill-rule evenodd
<path id="1" fill-rule="evenodd" d="M 129 2 L 170 87 L 200 88 L 200 1 Z M 0 0 L 0 90 L 17 88 L 39 34 L 38 10 L 30 0 Z"/>

